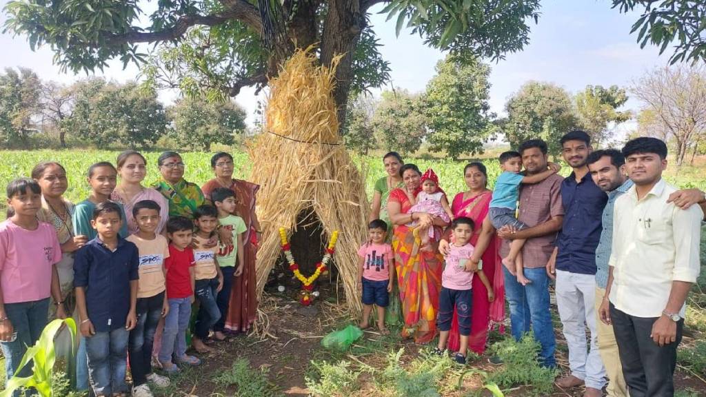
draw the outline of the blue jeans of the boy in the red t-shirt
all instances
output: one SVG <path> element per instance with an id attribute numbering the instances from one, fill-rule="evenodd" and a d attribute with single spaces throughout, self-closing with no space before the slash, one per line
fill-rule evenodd
<path id="1" fill-rule="evenodd" d="M 190 297 L 169 299 L 169 314 L 164 319 L 160 362 L 172 362 L 172 355 L 180 359 L 186 354 L 186 328 L 189 328 L 190 317 Z"/>

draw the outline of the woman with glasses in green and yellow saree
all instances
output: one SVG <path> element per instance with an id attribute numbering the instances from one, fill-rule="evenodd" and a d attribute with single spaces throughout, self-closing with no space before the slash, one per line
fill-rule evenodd
<path id="1" fill-rule="evenodd" d="M 157 159 L 162 179 L 152 187 L 169 201 L 169 216 L 185 216 L 193 220 L 196 208 L 203 206 L 205 198 L 197 184 L 184 180 L 184 161 L 177 152 L 164 152 Z"/>

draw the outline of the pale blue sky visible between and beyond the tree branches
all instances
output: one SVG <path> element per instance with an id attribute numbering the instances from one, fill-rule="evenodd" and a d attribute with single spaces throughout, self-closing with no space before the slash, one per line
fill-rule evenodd
<path id="1" fill-rule="evenodd" d="M 7 1 L 2 0 L 4 6 Z M 378 11 L 381 7 L 373 9 Z M 493 112 L 502 113 L 508 97 L 520 85 L 530 80 L 548 81 L 561 85 L 572 93 L 586 85 L 628 86 L 642 73 L 663 66 L 669 54 L 658 56 L 657 49 L 640 49 L 630 27 L 637 14 L 624 15 L 611 9 L 609 0 L 544 0 L 542 15 L 537 25 L 532 24 L 530 45 L 522 52 L 508 54 L 498 63 L 491 64 L 491 99 Z M 1 16 L 4 22 L 5 16 Z M 395 88 L 412 92 L 424 90 L 434 75 L 434 65 L 443 54 L 422 44 L 417 35 L 402 31 L 395 36 L 394 20 L 385 22 L 385 16 L 371 16 L 373 30 L 381 39 L 383 57 L 390 61 L 390 76 Z M 0 34 L 0 69 L 13 66 L 30 67 L 41 78 L 69 83 L 85 74 L 74 76 L 61 73 L 52 64 L 53 54 L 49 48 L 32 52 L 24 37 Z M 669 52 L 669 50 L 667 50 Z M 136 66 L 123 70 L 119 62 L 112 62 L 109 69 L 99 76 L 125 81 L 134 78 Z M 379 90 L 374 90 L 377 95 Z M 174 93 L 163 93 L 166 101 Z M 258 98 L 253 90 L 243 90 L 237 102 L 249 111 L 249 122 L 253 121 L 253 110 Z M 640 103 L 630 100 L 626 107 L 638 109 Z"/>

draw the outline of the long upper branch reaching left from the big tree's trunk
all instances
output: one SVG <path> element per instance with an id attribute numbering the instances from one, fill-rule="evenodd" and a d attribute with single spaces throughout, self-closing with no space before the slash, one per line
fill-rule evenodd
<path id="1" fill-rule="evenodd" d="M 133 30 L 132 32 L 127 32 L 122 35 L 108 35 L 106 38 L 110 45 L 176 40 L 182 35 L 184 35 L 184 33 L 186 33 L 186 30 L 191 28 L 191 26 L 220 25 L 221 23 L 232 19 L 240 20 L 242 23 L 248 25 L 256 32 L 261 32 L 262 20 L 255 6 L 245 0 L 228 0 L 222 1 L 222 3 L 226 7 L 225 11 L 223 11 L 222 13 L 210 14 L 207 16 L 181 16 L 172 28 L 160 30 L 158 32 L 139 32 L 137 30 Z"/>

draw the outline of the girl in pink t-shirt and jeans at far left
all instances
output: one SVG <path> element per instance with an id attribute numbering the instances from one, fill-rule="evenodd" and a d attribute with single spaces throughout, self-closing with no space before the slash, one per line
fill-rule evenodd
<path id="1" fill-rule="evenodd" d="M 59 239 L 52 225 L 37 220 L 40 185 L 28 178 L 15 179 L 7 186 L 7 197 L 11 216 L 0 223 L 0 343 L 9 380 L 47 325 L 50 294 L 57 304 L 56 316 L 64 319 L 66 313 L 56 273 Z M 26 366 L 20 376 L 31 372 L 31 365 Z"/>

